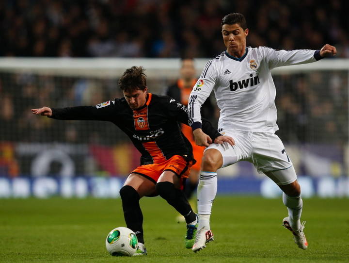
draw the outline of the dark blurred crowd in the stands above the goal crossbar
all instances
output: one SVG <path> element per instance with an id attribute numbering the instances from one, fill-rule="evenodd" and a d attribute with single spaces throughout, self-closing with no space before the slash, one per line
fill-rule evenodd
<path id="1" fill-rule="evenodd" d="M 239 12 L 249 46 L 319 49 L 349 57 L 349 1 L 1 0 L 0 56 L 214 57 L 220 23 Z"/>

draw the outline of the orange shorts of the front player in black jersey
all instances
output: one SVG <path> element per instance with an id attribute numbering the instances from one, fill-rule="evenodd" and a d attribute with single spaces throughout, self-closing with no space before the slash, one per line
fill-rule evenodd
<path id="1" fill-rule="evenodd" d="M 169 160 L 166 160 L 160 164 L 146 164 L 138 166 L 131 174 L 139 174 L 149 179 L 150 181 L 157 183 L 160 175 L 164 171 L 174 172 L 180 179 L 180 189 L 183 190 L 184 179 L 188 178 L 192 161 L 186 161 L 180 155 L 174 155 Z"/>

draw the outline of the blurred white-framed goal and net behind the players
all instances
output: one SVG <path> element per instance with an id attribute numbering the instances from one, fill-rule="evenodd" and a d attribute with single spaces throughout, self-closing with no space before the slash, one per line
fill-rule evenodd
<path id="1" fill-rule="evenodd" d="M 208 59 L 196 59 L 198 75 Z M 146 69 L 150 92 L 175 82 L 179 59 L 0 58 L 0 173 L 120 176 L 139 164 L 139 153 L 113 124 L 57 121 L 31 115 L 31 108 L 96 105 L 122 94 L 118 78 L 131 66 Z M 349 176 L 349 60 L 279 67 L 278 135 L 298 174 Z M 248 165 L 222 171 L 255 175 Z M 255 175 L 258 176 L 258 175 Z"/>

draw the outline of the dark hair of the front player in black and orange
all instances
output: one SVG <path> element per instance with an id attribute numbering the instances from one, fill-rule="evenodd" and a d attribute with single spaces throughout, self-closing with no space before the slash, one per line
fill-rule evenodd
<path id="1" fill-rule="evenodd" d="M 143 66 L 132 66 L 127 68 L 119 79 L 119 87 L 122 91 L 131 92 L 136 89 L 146 88 L 146 75 Z"/>

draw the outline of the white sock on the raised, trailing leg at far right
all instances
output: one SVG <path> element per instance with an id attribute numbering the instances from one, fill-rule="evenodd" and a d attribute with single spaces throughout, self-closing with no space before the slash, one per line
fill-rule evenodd
<path id="1" fill-rule="evenodd" d="M 297 197 L 289 197 L 283 193 L 283 202 L 288 210 L 288 218 L 291 228 L 299 230 L 301 228 L 301 212 L 303 207 L 301 195 Z"/>

